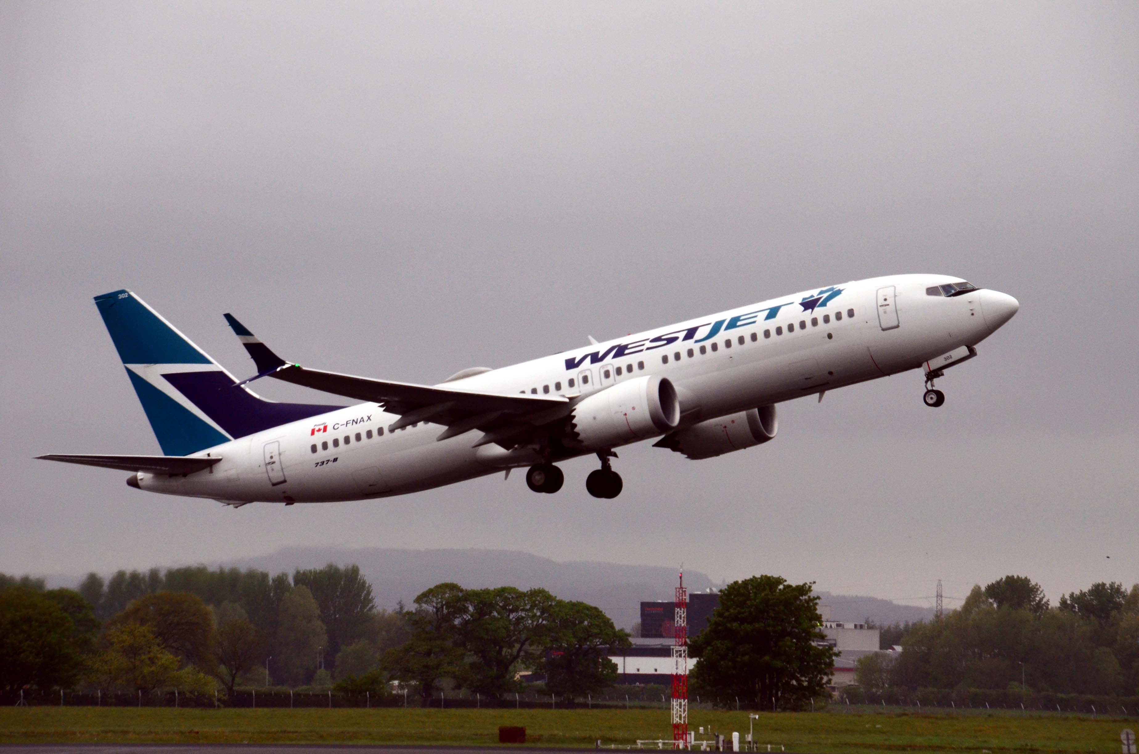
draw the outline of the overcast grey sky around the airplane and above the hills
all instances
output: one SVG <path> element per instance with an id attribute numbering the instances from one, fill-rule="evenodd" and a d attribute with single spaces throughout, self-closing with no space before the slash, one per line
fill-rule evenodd
<path id="1" fill-rule="evenodd" d="M 1134 2 L 0 3 L 0 569 L 375 544 L 901 599 L 1132 583 L 1137 238 Z M 91 303 L 120 287 L 238 375 L 226 311 L 432 383 L 900 272 L 1021 301 L 942 409 L 911 372 L 720 459 L 642 443 L 612 501 L 591 459 L 552 497 L 238 510 L 32 460 L 158 452 Z"/>

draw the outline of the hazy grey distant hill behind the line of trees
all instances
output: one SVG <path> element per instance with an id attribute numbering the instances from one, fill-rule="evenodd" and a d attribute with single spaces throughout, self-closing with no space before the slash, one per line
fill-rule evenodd
<path id="1" fill-rule="evenodd" d="M 640 620 L 641 600 L 671 600 L 677 584 L 677 569 L 667 566 L 557 562 L 515 550 L 292 547 L 222 565 L 292 573 L 295 568 L 320 567 L 327 563 L 359 565 L 371 582 L 380 607 L 393 608 L 400 601 L 410 605 L 418 593 L 444 581 L 467 588 L 541 587 L 562 599 L 596 605 L 625 629 Z M 685 583 L 693 591 L 723 585 L 699 571 L 686 571 Z M 893 623 L 933 617 L 931 608 L 898 605 L 875 597 L 819 593 L 821 601 L 830 605 L 835 621 L 861 622 L 869 617 L 878 623 Z"/>

